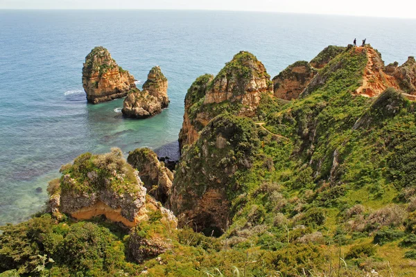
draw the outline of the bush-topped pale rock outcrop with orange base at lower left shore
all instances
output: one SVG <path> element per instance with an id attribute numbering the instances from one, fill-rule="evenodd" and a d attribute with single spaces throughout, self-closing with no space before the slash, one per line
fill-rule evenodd
<path id="1" fill-rule="evenodd" d="M 85 153 L 62 166 L 62 177 L 51 181 L 48 210 L 66 213 L 77 220 L 105 215 L 108 220 L 133 227 L 148 219 L 146 206 L 157 206 L 146 196 L 138 172 L 123 158 L 118 148 L 107 154 Z M 170 211 L 160 212 L 175 221 Z"/>

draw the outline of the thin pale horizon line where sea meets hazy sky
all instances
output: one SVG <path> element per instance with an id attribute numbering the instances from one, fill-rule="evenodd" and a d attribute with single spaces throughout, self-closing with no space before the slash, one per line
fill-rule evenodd
<path id="1" fill-rule="evenodd" d="M 279 12 L 275 10 L 215 10 L 215 9 L 155 9 L 155 8 L 0 8 L 3 10 L 15 10 L 15 11 L 135 11 L 135 10 L 147 10 L 147 11 L 185 11 L 185 12 L 261 12 L 261 13 L 277 13 L 286 15 L 325 15 L 325 16 L 336 16 L 336 17 L 368 17 L 368 18 L 387 18 L 387 19 L 414 19 L 416 17 L 396 17 L 396 16 L 377 16 L 377 15 L 348 15 L 341 13 L 314 13 L 314 12 Z"/>

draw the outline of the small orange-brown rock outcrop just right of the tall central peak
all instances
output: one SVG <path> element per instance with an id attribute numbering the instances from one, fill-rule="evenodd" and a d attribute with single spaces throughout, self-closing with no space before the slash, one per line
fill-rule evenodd
<path id="1" fill-rule="evenodd" d="M 284 100 L 298 98 L 317 72 L 309 62 L 291 64 L 272 80 L 275 97 Z"/>

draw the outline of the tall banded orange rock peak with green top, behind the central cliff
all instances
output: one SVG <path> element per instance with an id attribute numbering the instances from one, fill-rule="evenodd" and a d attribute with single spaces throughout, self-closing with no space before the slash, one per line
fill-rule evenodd
<path id="1" fill-rule="evenodd" d="M 193 143 L 209 120 L 228 111 L 238 116 L 254 116 L 263 94 L 272 93 L 272 82 L 264 65 L 245 51 L 212 78 L 203 75 L 188 91 L 180 146 Z"/>

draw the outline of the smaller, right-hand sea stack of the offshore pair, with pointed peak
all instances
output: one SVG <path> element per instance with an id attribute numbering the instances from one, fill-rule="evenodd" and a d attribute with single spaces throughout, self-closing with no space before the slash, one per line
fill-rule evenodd
<path id="1" fill-rule="evenodd" d="M 132 89 L 128 92 L 121 112 L 131 118 L 148 118 L 161 113 L 168 105 L 168 80 L 160 67 L 155 66 L 148 74 L 143 91 Z"/>

